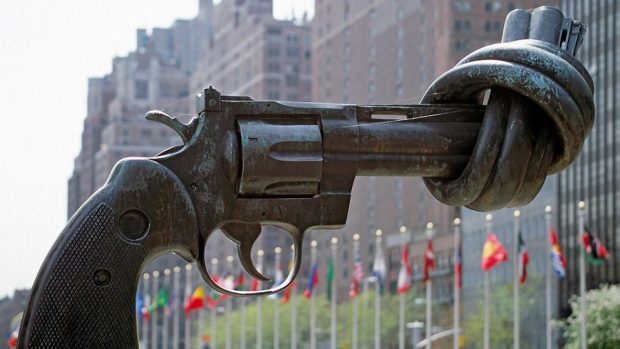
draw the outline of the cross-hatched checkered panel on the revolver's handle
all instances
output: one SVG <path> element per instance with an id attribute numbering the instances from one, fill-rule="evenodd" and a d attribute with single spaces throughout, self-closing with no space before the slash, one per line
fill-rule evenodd
<path id="1" fill-rule="evenodd" d="M 140 245 L 120 238 L 114 216 L 112 208 L 101 203 L 75 232 L 65 232 L 67 241 L 51 277 L 40 286 L 29 347 L 137 347 L 135 278 L 145 253 Z M 98 284 L 95 274 L 103 278 L 106 271 L 109 283 Z M 71 299 L 83 302 L 63 302 Z"/>

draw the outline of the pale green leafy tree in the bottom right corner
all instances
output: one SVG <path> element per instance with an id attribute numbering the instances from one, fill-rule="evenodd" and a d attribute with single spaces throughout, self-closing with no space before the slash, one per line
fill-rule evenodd
<path id="1" fill-rule="evenodd" d="M 590 349 L 620 348 L 620 285 L 603 285 L 586 294 L 586 333 Z M 570 301 L 571 315 L 564 321 L 566 348 L 579 348 L 579 297 Z"/>

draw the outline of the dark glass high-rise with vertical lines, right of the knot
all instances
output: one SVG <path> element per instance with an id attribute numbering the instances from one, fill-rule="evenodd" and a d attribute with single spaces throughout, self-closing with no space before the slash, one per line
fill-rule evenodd
<path id="1" fill-rule="evenodd" d="M 558 176 L 559 234 L 568 259 L 559 308 L 568 315 L 568 299 L 579 292 L 581 233 L 577 203 L 586 202 L 586 225 L 610 251 L 602 266 L 587 263 L 586 286 L 620 282 L 620 4 L 614 0 L 562 0 L 565 15 L 587 26 L 578 58 L 594 80 L 596 120 L 580 157 Z"/>

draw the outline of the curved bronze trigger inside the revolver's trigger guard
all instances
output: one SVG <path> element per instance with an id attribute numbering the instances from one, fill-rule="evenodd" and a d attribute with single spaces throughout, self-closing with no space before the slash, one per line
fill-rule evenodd
<path id="1" fill-rule="evenodd" d="M 237 244 L 239 260 L 245 271 L 261 281 L 271 281 L 269 277 L 258 271 L 252 262 L 252 247 L 262 230 L 260 224 L 228 223 L 221 229 L 229 239 Z"/>

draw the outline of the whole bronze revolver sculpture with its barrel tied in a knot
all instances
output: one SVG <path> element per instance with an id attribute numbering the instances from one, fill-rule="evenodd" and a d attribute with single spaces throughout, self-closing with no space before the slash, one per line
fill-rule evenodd
<path id="1" fill-rule="evenodd" d="M 196 261 L 220 292 L 284 289 L 304 232 L 345 224 L 356 176 L 420 176 L 438 200 L 480 211 L 528 203 L 593 124 L 592 80 L 574 58 L 584 32 L 552 8 L 515 10 L 502 43 L 465 57 L 419 105 L 254 101 L 209 87 L 188 124 L 147 113 L 183 145 L 121 160 L 71 218 L 32 288 L 19 347 L 137 347 L 139 276 L 165 252 Z M 292 271 L 268 290 L 221 288 L 205 265 L 209 236 L 221 229 L 268 280 L 251 258 L 262 225 L 293 237 Z"/>

